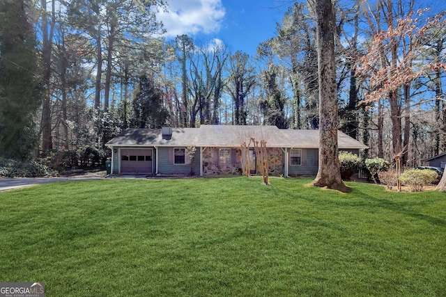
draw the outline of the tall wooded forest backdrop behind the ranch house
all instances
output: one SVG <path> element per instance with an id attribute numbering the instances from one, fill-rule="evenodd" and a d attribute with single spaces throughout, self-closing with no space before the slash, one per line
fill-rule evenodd
<path id="1" fill-rule="evenodd" d="M 446 152 L 445 11 L 423 4 L 335 2 L 339 129 L 408 167 Z M 318 129 L 314 15 L 281 5 L 250 56 L 163 37 L 163 0 L 0 0 L 0 156 L 106 157 L 128 127 Z"/>

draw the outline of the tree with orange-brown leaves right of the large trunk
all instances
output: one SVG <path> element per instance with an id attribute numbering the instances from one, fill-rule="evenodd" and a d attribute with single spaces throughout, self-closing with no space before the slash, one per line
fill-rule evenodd
<path id="1" fill-rule="evenodd" d="M 408 149 L 410 87 L 413 81 L 426 72 L 445 67 L 443 63 L 424 63 L 414 67 L 426 48 L 424 35 L 432 29 L 444 28 L 446 20 L 443 15 L 423 19 L 423 10 L 414 12 L 415 1 L 410 1 L 407 7 L 401 6 L 401 1 L 395 2 L 397 3 L 392 0 L 376 1 L 376 8 L 371 8 L 364 2 L 364 16 L 374 38 L 367 54 L 358 60 L 356 74 L 370 78 L 372 91 L 365 95 L 364 102 L 379 102 L 381 99 L 388 102 L 392 120 L 393 153 L 397 155 Z M 406 8 L 407 13 L 403 8 Z M 383 27 L 387 29 L 384 30 Z M 404 99 L 401 98 L 401 93 L 404 94 Z M 404 153 L 401 158 L 404 165 L 407 154 Z"/>

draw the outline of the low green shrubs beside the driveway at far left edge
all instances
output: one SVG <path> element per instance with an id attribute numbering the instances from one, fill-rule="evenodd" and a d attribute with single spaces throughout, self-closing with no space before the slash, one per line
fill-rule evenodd
<path id="1" fill-rule="evenodd" d="M 44 163 L 0 158 L 0 177 L 45 177 L 57 172 Z"/>

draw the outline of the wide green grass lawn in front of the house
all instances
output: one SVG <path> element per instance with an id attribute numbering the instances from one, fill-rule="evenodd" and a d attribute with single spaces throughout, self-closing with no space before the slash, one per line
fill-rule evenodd
<path id="1" fill-rule="evenodd" d="M 46 296 L 445 296 L 446 194 L 311 179 L 107 179 L 0 193 L 0 282 Z"/>

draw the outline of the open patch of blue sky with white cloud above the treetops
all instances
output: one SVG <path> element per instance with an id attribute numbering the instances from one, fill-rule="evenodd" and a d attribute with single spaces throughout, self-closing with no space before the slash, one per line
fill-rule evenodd
<path id="1" fill-rule="evenodd" d="M 287 6 L 272 0 L 167 0 L 169 13 L 158 13 L 167 38 L 190 35 L 206 44 L 224 42 L 231 51 L 256 54 L 257 45 L 275 35 Z"/>

